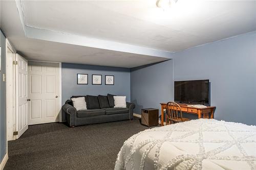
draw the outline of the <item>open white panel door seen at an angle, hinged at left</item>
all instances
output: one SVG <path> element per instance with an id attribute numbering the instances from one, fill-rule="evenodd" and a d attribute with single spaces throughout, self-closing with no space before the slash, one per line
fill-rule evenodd
<path id="1" fill-rule="evenodd" d="M 28 61 L 18 54 L 16 61 L 16 131 L 19 138 L 28 129 Z"/>

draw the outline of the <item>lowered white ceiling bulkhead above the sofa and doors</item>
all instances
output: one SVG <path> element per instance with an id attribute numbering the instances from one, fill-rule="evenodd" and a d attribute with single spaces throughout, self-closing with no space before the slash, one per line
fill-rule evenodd
<path id="1" fill-rule="evenodd" d="M 135 46 L 137 47 L 135 48 L 133 45 L 129 44 L 118 44 L 114 42 L 110 44 L 116 46 L 119 45 L 118 49 L 120 50 L 117 51 L 115 50 L 115 46 L 104 48 L 104 46 L 101 45 L 102 48 L 97 48 L 91 47 L 93 45 L 90 46 L 90 44 L 89 46 L 85 46 L 77 45 L 73 42 L 60 43 L 61 41 L 48 40 L 49 37 L 47 36 L 45 38 L 29 38 L 23 31 L 23 25 L 20 21 L 15 1 L 1 1 L 1 23 L 1 29 L 4 31 L 18 53 L 23 54 L 23 56 L 29 60 L 69 62 L 126 68 L 169 60 L 166 56 L 159 56 L 161 53 L 168 55 L 168 52 L 157 51 L 151 48 L 142 48 L 140 46 Z M 28 33 L 27 29 L 26 34 Z M 52 35 L 52 37 L 54 37 L 57 34 L 53 33 Z M 63 36 L 66 35 L 70 34 L 65 34 Z M 100 41 L 82 36 L 76 36 L 75 38 L 87 39 L 88 41 L 94 40 L 94 43 L 109 43 L 109 41 Z M 130 51 L 134 51 L 134 53 L 129 53 L 129 49 L 122 50 L 120 45 L 128 48 L 133 47 L 134 49 Z M 110 48 L 113 48 L 114 50 L 106 50 Z M 136 51 L 142 51 L 146 55 L 143 55 L 143 53 L 140 52 L 136 53 Z"/>

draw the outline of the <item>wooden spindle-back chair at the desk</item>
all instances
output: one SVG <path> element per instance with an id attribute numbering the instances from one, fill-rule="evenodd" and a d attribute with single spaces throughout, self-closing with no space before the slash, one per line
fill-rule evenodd
<path id="1" fill-rule="evenodd" d="M 180 116 L 179 116 L 180 113 Z M 177 123 L 177 122 L 185 122 L 190 119 L 182 117 L 182 111 L 180 105 L 175 102 L 168 102 L 166 108 L 166 125 Z"/>

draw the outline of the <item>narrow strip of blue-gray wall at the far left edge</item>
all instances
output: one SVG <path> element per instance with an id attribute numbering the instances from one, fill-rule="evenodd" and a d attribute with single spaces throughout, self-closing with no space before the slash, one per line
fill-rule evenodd
<path id="1" fill-rule="evenodd" d="M 6 75 L 6 39 L 0 31 L 1 37 L 1 76 L 0 76 L 0 163 L 6 154 L 6 82 L 3 82 L 3 74 Z"/>

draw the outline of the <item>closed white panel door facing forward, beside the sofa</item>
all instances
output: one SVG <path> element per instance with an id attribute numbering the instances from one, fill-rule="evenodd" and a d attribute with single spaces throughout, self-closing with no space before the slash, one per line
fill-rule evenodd
<path id="1" fill-rule="evenodd" d="M 29 125 L 59 122 L 59 64 L 29 61 Z"/>

